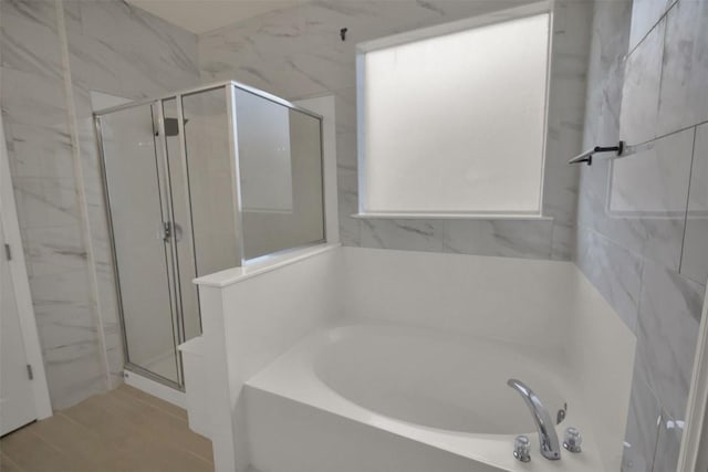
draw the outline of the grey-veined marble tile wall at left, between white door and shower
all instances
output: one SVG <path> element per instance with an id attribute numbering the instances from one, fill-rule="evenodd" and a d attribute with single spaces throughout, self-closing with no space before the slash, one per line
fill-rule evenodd
<path id="1" fill-rule="evenodd" d="M 58 2 L 0 6 L 0 103 L 55 409 L 115 386 L 123 368 L 88 92 L 142 98 L 199 82 L 194 34 L 117 0 Z"/>

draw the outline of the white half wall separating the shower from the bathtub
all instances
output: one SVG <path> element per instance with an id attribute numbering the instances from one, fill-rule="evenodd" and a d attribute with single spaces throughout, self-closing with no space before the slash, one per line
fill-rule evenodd
<path id="1" fill-rule="evenodd" d="M 341 265 L 341 250 L 331 244 L 195 281 L 217 471 L 244 471 L 250 463 L 242 421 L 244 381 L 342 315 Z"/>

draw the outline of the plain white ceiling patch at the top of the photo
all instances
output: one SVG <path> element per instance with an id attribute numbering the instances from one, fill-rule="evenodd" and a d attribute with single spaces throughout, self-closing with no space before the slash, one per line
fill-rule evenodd
<path id="1" fill-rule="evenodd" d="M 126 0 L 128 3 L 201 34 L 241 20 L 309 0 Z"/>

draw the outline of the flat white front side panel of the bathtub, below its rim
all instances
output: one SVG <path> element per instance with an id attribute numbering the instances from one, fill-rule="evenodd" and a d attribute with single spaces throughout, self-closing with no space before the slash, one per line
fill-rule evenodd
<path id="1" fill-rule="evenodd" d="M 269 472 L 500 472 L 339 415 L 246 388 L 249 449 Z"/>

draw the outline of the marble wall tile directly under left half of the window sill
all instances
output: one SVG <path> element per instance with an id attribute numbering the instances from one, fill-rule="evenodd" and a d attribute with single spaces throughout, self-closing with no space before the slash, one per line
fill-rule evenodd
<path id="1" fill-rule="evenodd" d="M 361 245 L 402 251 L 442 251 L 441 220 L 360 220 Z"/>

